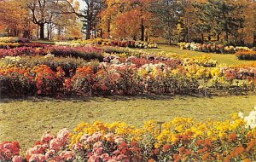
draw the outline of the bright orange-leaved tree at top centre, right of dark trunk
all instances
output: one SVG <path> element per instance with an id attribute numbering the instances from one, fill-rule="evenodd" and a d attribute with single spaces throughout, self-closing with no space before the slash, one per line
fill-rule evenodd
<path id="1" fill-rule="evenodd" d="M 106 0 L 102 10 L 102 29 L 106 35 L 119 38 L 134 38 L 140 35 L 141 40 L 147 40 L 150 29 L 150 3 L 153 0 Z"/>

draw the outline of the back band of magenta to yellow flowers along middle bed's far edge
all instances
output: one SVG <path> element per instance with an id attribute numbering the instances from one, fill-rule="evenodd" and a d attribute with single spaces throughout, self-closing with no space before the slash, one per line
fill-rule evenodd
<path id="1" fill-rule="evenodd" d="M 207 67 L 216 67 L 217 62 L 203 55 L 202 57 L 192 58 L 189 55 L 169 55 L 157 53 L 154 55 L 147 54 L 143 51 L 132 51 L 131 49 L 104 46 L 96 48 L 90 45 L 84 47 L 67 47 L 67 46 L 50 46 L 40 43 L 26 43 L 20 48 L 0 49 L 0 58 L 5 56 L 35 56 L 35 55 L 52 55 L 62 57 L 76 57 L 87 61 L 102 61 L 103 55 L 114 55 L 120 58 L 135 56 L 139 58 L 148 58 L 148 60 L 168 60 L 172 58 L 189 58 L 189 60 L 197 61 L 198 64 Z M 113 57 L 113 56 L 111 56 Z"/>

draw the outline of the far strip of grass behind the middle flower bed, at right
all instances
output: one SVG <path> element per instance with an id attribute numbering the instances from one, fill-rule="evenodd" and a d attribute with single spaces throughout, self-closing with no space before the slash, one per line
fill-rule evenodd
<path id="1" fill-rule="evenodd" d="M 158 45 L 158 49 L 142 49 L 146 52 L 161 52 L 164 51 L 166 53 L 173 53 L 177 55 L 210 55 L 212 59 L 217 60 L 218 63 L 225 63 L 225 64 L 233 64 L 233 65 L 239 65 L 239 64 L 250 64 L 250 63 L 256 63 L 256 61 L 239 61 L 236 59 L 235 55 L 231 54 L 213 54 L 213 53 L 204 53 L 204 52 L 197 52 L 187 49 L 179 49 L 177 46 L 168 46 L 168 45 Z"/>

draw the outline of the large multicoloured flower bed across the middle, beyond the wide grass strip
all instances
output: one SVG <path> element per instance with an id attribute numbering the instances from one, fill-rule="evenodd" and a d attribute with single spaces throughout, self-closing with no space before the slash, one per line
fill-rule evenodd
<path id="1" fill-rule="evenodd" d="M 232 95 L 255 91 L 256 64 L 223 66 L 206 55 L 26 43 L 0 49 L 0 57 L 0 91 L 10 96 Z"/>

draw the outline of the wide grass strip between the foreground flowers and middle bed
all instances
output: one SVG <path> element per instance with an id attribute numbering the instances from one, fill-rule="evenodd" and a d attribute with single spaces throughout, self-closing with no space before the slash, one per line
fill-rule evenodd
<path id="1" fill-rule="evenodd" d="M 81 121 L 93 123 L 123 121 L 141 126 L 143 121 L 169 121 L 175 117 L 230 119 L 231 113 L 249 113 L 256 106 L 256 95 L 191 97 L 166 96 L 147 99 L 140 97 L 91 98 L 82 100 L 54 100 L 31 98 L 0 102 L 0 142 L 20 142 L 26 148 L 40 139 L 46 130 L 55 133 L 73 128 Z"/>

